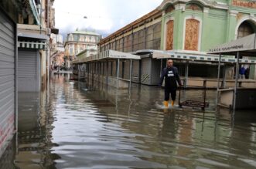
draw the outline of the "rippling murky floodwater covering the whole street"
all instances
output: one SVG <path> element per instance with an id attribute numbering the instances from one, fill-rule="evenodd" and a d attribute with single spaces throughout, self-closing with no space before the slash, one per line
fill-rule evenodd
<path id="1" fill-rule="evenodd" d="M 215 96 L 207 91 L 205 111 L 166 112 L 154 86 L 129 92 L 54 76 L 41 93 L 19 93 L 19 132 L 0 168 L 256 168 L 256 113 L 215 111 Z"/>

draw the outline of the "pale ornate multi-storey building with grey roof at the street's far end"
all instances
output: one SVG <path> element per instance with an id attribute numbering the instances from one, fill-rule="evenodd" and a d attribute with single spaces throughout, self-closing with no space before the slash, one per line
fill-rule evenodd
<path id="1" fill-rule="evenodd" d="M 66 67 L 70 67 L 70 61 L 76 59 L 77 54 L 87 50 L 96 50 L 97 43 L 100 42 L 101 35 L 95 32 L 75 31 L 67 35 L 65 42 L 65 63 Z"/>

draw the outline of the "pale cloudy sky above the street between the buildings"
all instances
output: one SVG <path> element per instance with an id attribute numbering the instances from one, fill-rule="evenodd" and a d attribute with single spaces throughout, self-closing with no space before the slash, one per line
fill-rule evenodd
<path id="1" fill-rule="evenodd" d="M 66 35 L 76 29 L 104 37 L 157 8 L 163 0 L 55 0 L 56 28 Z M 84 19 L 87 18 L 87 19 Z"/>

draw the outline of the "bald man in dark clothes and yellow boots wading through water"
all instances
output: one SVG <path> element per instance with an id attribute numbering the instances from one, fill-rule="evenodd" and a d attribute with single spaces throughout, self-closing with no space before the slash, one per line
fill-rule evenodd
<path id="1" fill-rule="evenodd" d="M 161 75 L 159 86 L 162 86 L 163 79 L 165 79 L 165 101 L 164 101 L 164 105 L 166 107 L 168 107 L 169 95 L 171 93 L 172 106 L 173 106 L 174 102 L 176 100 L 177 82 L 179 83 L 179 86 L 182 86 L 182 83 L 181 83 L 180 78 L 179 78 L 178 69 L 175 66 L 173 66 L 172 59 L 168 59 L 167 67 L 162 70 L 162 75 Z"/>

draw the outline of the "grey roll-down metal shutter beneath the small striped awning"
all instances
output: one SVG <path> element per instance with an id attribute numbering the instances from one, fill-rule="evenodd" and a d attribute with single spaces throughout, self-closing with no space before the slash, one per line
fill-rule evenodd
<path id="1" fill-rule="evenodd" d="M 18 51 L 18 91 L 39 91 L 39 68 L 37 50 L 19 49 Z"/>

